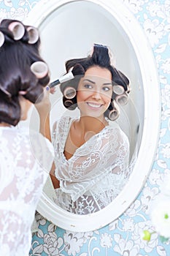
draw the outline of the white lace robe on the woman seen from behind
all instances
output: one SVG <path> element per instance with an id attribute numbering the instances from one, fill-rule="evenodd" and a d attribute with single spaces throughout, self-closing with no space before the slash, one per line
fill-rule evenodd
<path id="1" fill-rule="evenodd" d="M 0 255 L 26 256 L 53 146 L 42 135 L 16 127 L 0 127 L 0 145 Z"/>

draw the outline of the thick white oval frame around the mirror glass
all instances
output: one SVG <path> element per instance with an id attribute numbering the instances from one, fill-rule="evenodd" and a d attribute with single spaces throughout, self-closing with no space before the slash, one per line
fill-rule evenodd
<path id="1" fill-rule="evenodd" d="M 81 0 L 41 0 L 36 4 L 34 9 L 31 10 L 28 18 L 24 20 L 24 23 L 39 27 L 45 17 L 50 15 L 53 10 L 73 1 Z M 50 220 L 50 222 L 58 225 L 58 227 L 74 232 L 87 232 L 104 227 L 120 217 L 131 203 L 134 202 L 143 188 L 152 168 L 158 146 L 158 134 L 161 122 L 161 99 L 157 67 L 152 55 L 150 43 L 147 41 L 147 37 L 138 21 L 128 8 L 120 3 L 120 0 L 83 1 L 99 4 L 104 10 L 107 10 L 107 12 L 113 15 L 123 31 L 128 35 L 131 45 L 133 45 L 142 74 L 144 89 L 144 127 L 139 154 L 128 184 L 125 185 L 120 194 L 109 206 L 94 214 L 71 214 L 56 206 L 43 192 L 37 211 L 46 219 Z"/>

